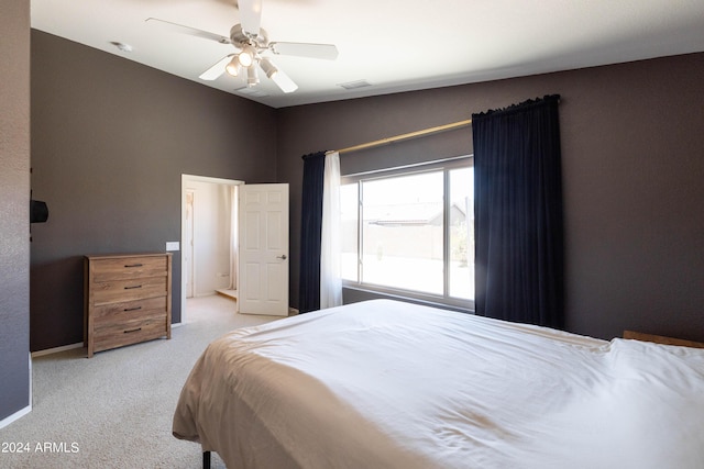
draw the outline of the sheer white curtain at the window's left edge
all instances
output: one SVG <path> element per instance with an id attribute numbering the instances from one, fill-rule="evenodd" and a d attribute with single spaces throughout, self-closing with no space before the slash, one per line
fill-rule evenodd
<path id="1" fill-rule="evenodd" d="M 342 304 L 340 270 L 340 154 L 326 155 L 320 241 L 320 309 Z"/>

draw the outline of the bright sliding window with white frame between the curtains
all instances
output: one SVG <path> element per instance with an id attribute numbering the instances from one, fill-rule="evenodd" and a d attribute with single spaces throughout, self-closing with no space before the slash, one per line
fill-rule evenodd
<path id="1" fill-rule="evenodd" d="M 473 182 L 470 158 L 343 178 L 345 284 L 471 306 Z"/>

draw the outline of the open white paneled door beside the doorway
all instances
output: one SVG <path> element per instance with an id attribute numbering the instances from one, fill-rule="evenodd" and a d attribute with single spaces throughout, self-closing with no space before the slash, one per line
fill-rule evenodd
<path id="1" fill-rule="evenodd" d="M 240 186 L 239 309 L 288 315 L 288 185 Z"/>

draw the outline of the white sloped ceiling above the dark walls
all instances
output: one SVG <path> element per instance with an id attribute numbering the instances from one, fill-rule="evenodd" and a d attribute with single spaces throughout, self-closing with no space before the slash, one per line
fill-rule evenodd
<path id="1" fill-rule="evenodd" d="M 274 107 L 435 88 L 704 51 L 703 0 L 263 0 L 271 41 L 332 43 L 334 62 L 276 56 L 299 89 L 198 76 L 232 45 L 234 0 L 31 0 L 32 27 Z M 132 46 L 121 52 L 112 42 Z M 340 83 L 372 86 L 346 90 Z M 262 94 L 262 96 L 258 96 Z"/>

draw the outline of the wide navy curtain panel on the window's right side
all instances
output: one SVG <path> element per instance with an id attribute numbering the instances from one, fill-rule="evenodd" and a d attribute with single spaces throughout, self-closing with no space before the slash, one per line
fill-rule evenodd
<path id="1" fill-rule="evenodd" d="M 559 99 L 472 115 L 476 314 L 563 327 Z"/>

